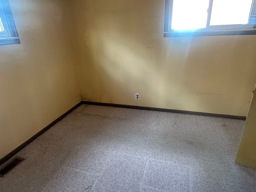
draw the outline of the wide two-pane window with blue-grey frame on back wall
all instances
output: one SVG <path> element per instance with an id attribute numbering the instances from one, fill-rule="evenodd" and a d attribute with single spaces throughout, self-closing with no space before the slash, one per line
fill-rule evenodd
<path id="1" fill-rule="evenodd" d="M 256 0 L 166 0 L 164 37 L 256 34 Z"/>

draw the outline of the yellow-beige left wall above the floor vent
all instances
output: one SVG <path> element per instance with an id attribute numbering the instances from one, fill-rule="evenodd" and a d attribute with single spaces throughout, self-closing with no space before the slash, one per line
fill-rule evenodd
<path id="1" fill-rule="evenodd" d="M 0 46 L 0 158 L 80 102 L 64 0 L 10 0 L 21 44 Z"/>

